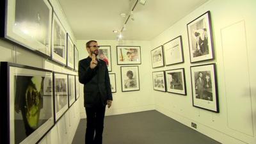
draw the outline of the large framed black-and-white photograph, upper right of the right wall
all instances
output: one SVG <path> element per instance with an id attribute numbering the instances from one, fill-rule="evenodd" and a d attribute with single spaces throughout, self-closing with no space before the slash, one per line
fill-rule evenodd
<path id="1" fill-rule="evenodd" d="M 210 11 L 187 24 L 190 62 L 213 60 L 214 47 Z"/>

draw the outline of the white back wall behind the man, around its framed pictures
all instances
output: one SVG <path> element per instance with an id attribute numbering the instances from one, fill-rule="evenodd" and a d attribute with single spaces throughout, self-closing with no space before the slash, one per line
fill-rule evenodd
<path id="1" fill-rule="evenodd" d="M 86 42 L 88 42 L 88 40 L 77 40 L 79 60 L 87 58 L 88 56 L 88 52 L 85 48 Z M 106 109 L 106 115 L 118 115 L 122 113 L 133 113 L 155 109 L 154 97 L 152 95 L 152 72 L 149 51 L 151 49 L 150 42 L 123 41 L 122 44 L 118 44 L 116 40 L 97 40 L 97 42 L 99 45 L 111 45 L 112 71 L 109 73 L 116 74 L 116 93 L 113 93 L 113 103 L 111 108 Z M 134 45 L 141 47 L 141 65 L 138 65 L 140 73 L 140 91 L 122 92 L 120 66 L 126 65 L 117 65 L 116 45 Z M 85 118 L 83 99 L 80 99 L 80 106 L 81 118 Z"/>

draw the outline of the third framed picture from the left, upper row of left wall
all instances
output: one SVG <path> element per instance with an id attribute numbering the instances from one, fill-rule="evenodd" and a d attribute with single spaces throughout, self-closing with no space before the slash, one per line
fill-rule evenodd
<path id="1" fill-rule="evenodd" d="M 74 43 L 70 38 L 70 35 L 67 33 L 67 67 L 74 69 Z"/>

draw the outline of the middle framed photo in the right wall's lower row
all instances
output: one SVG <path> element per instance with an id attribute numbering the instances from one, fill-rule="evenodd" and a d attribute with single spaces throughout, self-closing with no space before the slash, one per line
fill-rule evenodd
<path id="1" fill-rule="evenodd" d="M 166 70 L 167 92 L 187 95 L 184 68 Z"/>

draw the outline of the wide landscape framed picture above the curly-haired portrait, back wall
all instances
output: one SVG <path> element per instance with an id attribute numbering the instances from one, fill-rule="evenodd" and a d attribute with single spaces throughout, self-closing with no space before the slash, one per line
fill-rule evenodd
<path id="1" fill-rule="evenodd" d="M 141 64 L 140 46 L 116 46 L 117 65 Z"/>

